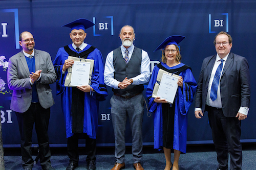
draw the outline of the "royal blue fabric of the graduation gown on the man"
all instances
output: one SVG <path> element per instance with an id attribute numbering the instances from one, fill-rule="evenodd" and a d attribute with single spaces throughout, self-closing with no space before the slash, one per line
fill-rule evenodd
<path id="1" fill-rule="evenodd" d="M 76 50 L 69 44 L 69 47 L 72 51 L 76 52 Z M 87 45 L 83 51 L 76 52 L 82 53 L 88 50 L 91 45 Z M 71 117 L 71 104 L 72 104 L 72 88 L 75 87 L 65 87 L 65 78 L 67 76 L 68 71 L 65 74 L 62 74 L 62 66 L 65 60 L 68 59 L 68 53 L 65 51 L 64 47 L 59 48 L 56 58 L 53 61 L 53 65 L 55 67 L 55 72 L 57 74 L 57 95 L 61 94 L 61 107 L 63 114 L 65 116 L 66 123 L 66 134 L 67 138 L 74 135 L 72 133 L 72 117 Z M 105 100 L 108 92 L 106 91 L 106 86 L 104 84 L 103 78 L 103 59 L 100 51 L 95 48 L 93 52 L 91 52 L 88 59 L 94 60 L 94 68 L 91 79 L 91 87 L 95 90 L 93 92 L 84 93 L 84 116 L 83 116 L 83 133 L 87 133 L 90 138 L 96 139 L 97 127 L 98 127 L 98 108 L 99 101 Z"/>

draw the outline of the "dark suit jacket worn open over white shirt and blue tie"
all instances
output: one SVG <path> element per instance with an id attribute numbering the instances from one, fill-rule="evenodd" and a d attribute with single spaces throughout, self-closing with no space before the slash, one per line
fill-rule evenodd
<path id="1" fill-rule="evenodd" d="M 203 60 L 200 71 L 195 108 L 205 110 L 208 84 L 211 70 L 214 67 L 216 55 Z M 235 117 L 240 106 L 250 105 L 250 75 L 249 66 L 245 57 L 229 53 L 220 80 L 220 91 L 223 114 L 226 117 Z"/>

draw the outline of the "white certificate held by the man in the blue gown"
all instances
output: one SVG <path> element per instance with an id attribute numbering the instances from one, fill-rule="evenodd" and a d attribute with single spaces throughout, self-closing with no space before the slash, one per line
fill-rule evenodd
<path id="1" fill-rule="evenodd" d="M 90 62 L 74 61 L 72 65 L 71 86 L 85 86 L 89 84 Z"/>

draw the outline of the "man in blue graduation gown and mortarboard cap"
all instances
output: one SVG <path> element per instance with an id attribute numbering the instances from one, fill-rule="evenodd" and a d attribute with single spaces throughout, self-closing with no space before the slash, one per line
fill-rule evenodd
<path id="1" fill-rule="evenodd" d="M 105 100 L 108 93 L 103 80 L 102 55 L 96 47 L 83 42 L 87 36 L 85 30 L 92 26 L 94 23 L 82 18 L 64 25 L 71 28 L 70 38 L 73 43 L 59 48 L 53 62 L 57 74 L 57 95 L 61 94 L 61 106 L 66 121 L 70 158 L 67 170 L 73 170 L 78 166 L 78 138 L 80 137 L 86 138 L 88 169 L 96 168 L 99 101 Z M 68 59 L 68 56 L 94 60 L 91 84 L 77 87 L 64 85 L 67 69 L 74 64 L 74 60 Z"/>

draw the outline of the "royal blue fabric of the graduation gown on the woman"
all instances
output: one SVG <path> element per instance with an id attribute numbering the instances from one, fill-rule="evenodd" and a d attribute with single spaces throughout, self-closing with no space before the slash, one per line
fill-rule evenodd
<path id="1" fill-rule="evenodd" d="M 176 69 L 184 66 L 180 63 L 174 67 L 168 67 L 166 64 L 161 65 L 168 69 Z M 155 103 L 152 98 L 154 85 L 156 83 L 159 67 L 154 67 L 152 77 L 146 89 L 146 97 L 148 98 L 148 111 L 153 113 L 154 117 L 154 148 L 161 149 L 163 146 L 163 117 L 162 104 Z M 197 82 L 189 68 L 180 72 L 179 76 L 183 78 L 183 88 L 178 87 L 175 100 L 175 114 L 174 114 L 174 143 L 173 149 L 186 153 L 187 141 L 187 112 L 193 102 L 193 96 L 197 89 Z M 186 89 L 186 85 L 188 85 Z M 190 89 L 190 90 L 189 90 Z"/>

